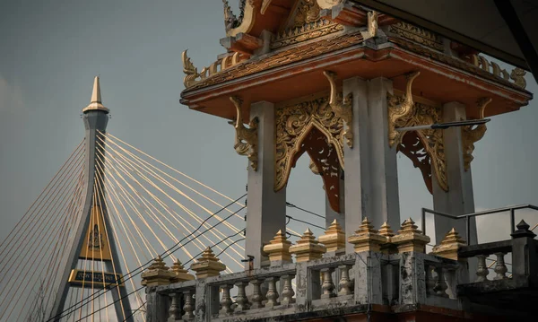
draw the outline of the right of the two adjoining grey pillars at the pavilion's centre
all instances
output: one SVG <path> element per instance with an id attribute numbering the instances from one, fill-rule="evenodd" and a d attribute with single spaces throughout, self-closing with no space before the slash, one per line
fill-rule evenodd
<path id="1" fill-rule="evenodd" d="M 400 225 L 396 148 L 388 144 L 388 103 L 392 81 L 378 77 L 368 82 L 369 173 L 371 209 L 365 213 L 375 229 L 383 222 Z"/>

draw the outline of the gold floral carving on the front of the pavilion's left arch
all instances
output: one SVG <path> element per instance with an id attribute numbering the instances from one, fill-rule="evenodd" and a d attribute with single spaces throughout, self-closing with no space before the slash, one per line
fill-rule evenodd
<path id="1" fill-rule="evenodd" d="M 333 109 L 329 106 L 328 98 L 308 100 L 278 108 L 275 110 L 275 122 L 275 191 L 286 187 L 291 168 L 296 161 L 296 154 L 307 150 L 303 143 L 308 140 L 312 131 L 318 131 L 325 136 L 323 146 L 326 147 L 326 152 L 329 149 L 334 150 L 329 154 L 336 154 L 339 165 L 343 169 L 343 120 L 334 115 Z M 314 160 L 314 158 L 312 159 Z M 334 170 L 334 165 L 319 163 L 316 166 L 322 175 L 334 176 L 334 173 L 337 173 Z"/>

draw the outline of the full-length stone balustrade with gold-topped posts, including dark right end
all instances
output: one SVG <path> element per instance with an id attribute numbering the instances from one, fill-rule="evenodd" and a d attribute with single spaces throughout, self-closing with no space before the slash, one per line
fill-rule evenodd
<path id="1" fill-rule="evenodd" d="M 326 252 L 307 230 L 295 245 L 285 232 L 278 231 L 265 246 L 271 262 L 239 273 L 221 274 L 225 265 L 211 248 L 191 265 L 196 279 L 181 263 L 169 268 L 159 257 L 143 274 L 147 321 L 291 321 L 420 307 L 461 311 L 469 300 L 494 301 L 489 293 L 538 286 L 534 236 L 520 222 L 512 239 L 466 246 L 452 230 L 425 254 L 429 238 L 411 219 L 397 234 L 386 223 L 376 231 L 365 219 L 347 239 L 355 248 L 351 254 L 337 254 L 334 249 L 341 246 Z M 513 261 L 511 278 L 504 259 L 508 253 Z M 493 280 L 488 278 L 485 262 L 491 255 L 496 257 Z M 471 279 L 470 257 L 478 258 L 478 270 Z"/>

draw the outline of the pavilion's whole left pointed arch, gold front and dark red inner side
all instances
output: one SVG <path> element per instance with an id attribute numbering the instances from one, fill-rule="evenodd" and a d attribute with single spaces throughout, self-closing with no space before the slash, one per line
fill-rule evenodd
<path id="1" fill-rule="evenodd" d="M 322 176 L 334 211 L 340 211 L 340 173 L 343 170 L 343 120 L 334 115 L 327 97 L 277 108 L 274 190 L 286 187 L 291 168 L 308 152 Z"/>

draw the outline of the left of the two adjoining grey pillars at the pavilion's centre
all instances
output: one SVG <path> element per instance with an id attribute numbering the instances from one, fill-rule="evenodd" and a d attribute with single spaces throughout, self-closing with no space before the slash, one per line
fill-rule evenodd
<path id="1" fill-rule="evenodd" d="M 345 217 L 339 222 L 346 239 L 359 229 L 362 217 L 369 215 L 369 117 L 368 83 L 359 77 L 343 81 L 343 96 L 352 94 L 351 108 L 353 121 L 349 125 L 353 131 L 353 147 L 343 144 L 344 156 L 344 205 Z M 345 252 L 354 253 L 353 245 L 346 243 Z"/>

